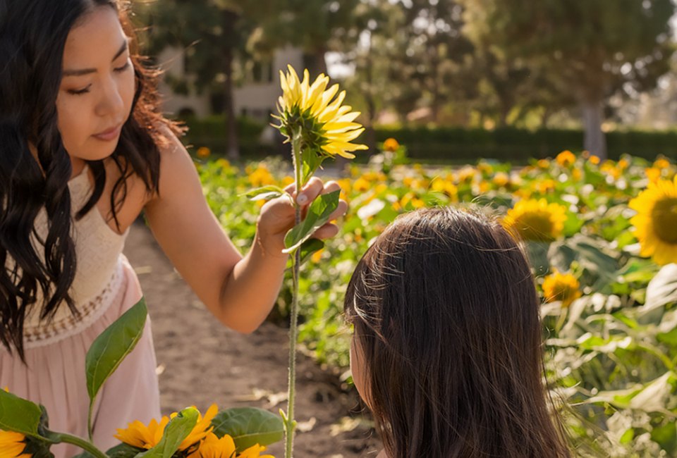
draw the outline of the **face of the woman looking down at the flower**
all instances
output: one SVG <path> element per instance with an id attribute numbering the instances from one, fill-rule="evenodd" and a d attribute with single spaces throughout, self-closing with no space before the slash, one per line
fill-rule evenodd
<path id="1" fill-rule="evenodd" d="M 78 159 L 110 156 L 134 97 L 134 70 L 116 11 L 97 6 L 78 23 L 63 49 L 56 98 L 63 147 Z"/>

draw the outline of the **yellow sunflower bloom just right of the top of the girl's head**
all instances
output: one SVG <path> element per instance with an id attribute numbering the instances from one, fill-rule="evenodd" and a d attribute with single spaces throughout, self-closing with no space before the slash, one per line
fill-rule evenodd
<path id="1" fill-rule="evenodd" d="M 522 240 L 551 242 L 559 237 L 566 221 L 566 208 L 545 199 L 520 200 L 503 220 L 504 227 Z"/>

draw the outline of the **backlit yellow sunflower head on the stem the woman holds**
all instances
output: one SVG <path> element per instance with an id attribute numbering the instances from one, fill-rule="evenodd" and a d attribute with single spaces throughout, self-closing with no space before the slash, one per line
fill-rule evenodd
<path id="1" fill-rule="evenodd" d="M 304 147 L 326 157 L 338 155 L 353 159 L 355 155 L 350 151 L 367 149 L 364 144 L 350 143 L 365 130 L 360 123 L 353 122 L 360 112 L 351 112 L 352 107 L 341 105 L 346 91 L 334 99 L 338 85 L 327 89 L 329 77 L 319 75 L 310 84 L 308 70 L 304 70 L 303 81 L 300 81 L 292 66 L 288 66 L 288 73 L 280 71 L 280 84 L 280 116 L 276 118 L 281 124 L 276 128 L 289 140 L 300 130 Z"/>

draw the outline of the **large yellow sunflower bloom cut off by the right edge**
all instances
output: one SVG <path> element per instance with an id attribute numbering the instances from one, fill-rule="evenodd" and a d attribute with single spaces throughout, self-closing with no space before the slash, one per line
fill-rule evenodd
<path id="1" fill-rule="evenodd" d="M 640 241 L 640 254 L 661 265 L 677 262 L 677 176 L 650 182 L 629 206 L 637 211 L 630 223 Z"/>

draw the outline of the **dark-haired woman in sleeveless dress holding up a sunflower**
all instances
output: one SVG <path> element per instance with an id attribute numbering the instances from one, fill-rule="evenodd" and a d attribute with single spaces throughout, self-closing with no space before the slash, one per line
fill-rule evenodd
<path id="1" fill-rule="evenodd" d="M 55 431 L 86 435 L 85 354 L 141 297 L 122 254 L 141 211 L 226 326 L 255 330 L 283 279 L 291 202 L 263 206 L 240 256 L 152 87 L 121 2 L 0 0 L 0 387 L 44 404 Z M 295 198 L 332 190 L 315 179 Z M 342 202 L 334 216 L 345 211 Z M 336 232 L 328 224 L 315 236 Z M 116 428 L 159 417 L 155 367 L 149 323 L 99 395 L 99 447 L 115 443 Z M 60 447 L 57 458 L 78 452 Z"/>

